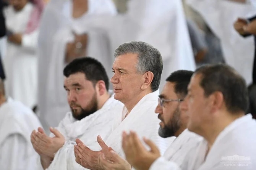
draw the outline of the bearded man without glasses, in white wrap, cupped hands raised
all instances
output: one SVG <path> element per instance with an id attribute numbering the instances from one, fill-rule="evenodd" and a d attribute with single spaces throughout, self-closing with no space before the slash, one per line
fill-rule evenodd
<path id="1" fill-rule="evenodd" d="M 96 59 L 75 59 L 65 67 L 63 74 L 71 112 L 66 114 L 57 128 L 50 128 L 50 136 L 42 128 L 32 132 L 31 142 L 40 156 L 37 169 L 83 168 L 75 161 L 73 147 L 76 138 L 87 146 L 95 146 L 97 141 L 112 132 L 112 121 L 120 113 L 115 110 L 123 108 L 123 104 L 108 91 L 109 78 Z"/>

